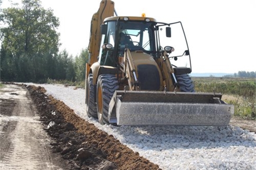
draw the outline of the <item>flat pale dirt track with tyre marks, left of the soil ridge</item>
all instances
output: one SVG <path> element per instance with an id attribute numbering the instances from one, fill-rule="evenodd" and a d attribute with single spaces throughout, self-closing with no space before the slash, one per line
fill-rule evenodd
<path id="1" fill-rule="evenodd" d="M 8 85 L 0 96 L 0 169 L 64 169 L 61 157 L 51 152 L 27 90 Z"/>

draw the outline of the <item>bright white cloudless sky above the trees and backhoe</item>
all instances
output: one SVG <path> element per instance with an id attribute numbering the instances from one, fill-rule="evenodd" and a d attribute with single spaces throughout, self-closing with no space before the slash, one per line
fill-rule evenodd
<path id="1" fill-rule="evenodd" d="M 10 6 L 2 0 L 2 8 Z M 21 2 L 21 0 L 13 0 Z M 113 0 L 119 16 L 181 21 L 193 73 L 256 71 L 256 0 Z M 101 0 L 41 0 L 59 18 L 60 50 L 79 55 L 88 47 L 91 17 Z M 153 3 L 154 2 L 154 3 Z"/>

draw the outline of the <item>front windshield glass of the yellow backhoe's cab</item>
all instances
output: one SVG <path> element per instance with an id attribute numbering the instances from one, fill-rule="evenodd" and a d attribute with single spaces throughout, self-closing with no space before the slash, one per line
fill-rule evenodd
<path id="1" fill-rule="evenodd" d="M 130 51 L 155 51 L 153 23 L 120 21 L 119 30 L 119 50 L 127 47 Z"/>

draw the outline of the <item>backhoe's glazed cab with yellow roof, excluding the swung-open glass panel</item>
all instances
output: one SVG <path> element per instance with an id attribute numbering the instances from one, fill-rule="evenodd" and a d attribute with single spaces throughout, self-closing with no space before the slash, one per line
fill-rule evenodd
<path id="1" fill-rule="evenodd" d="M 119 19 L 118 19 L 119 18 Z M 116 67 L 118 57 L 124 56 L 124 51 L 143 51 L 155 55 L 155 19 L 146 22 L 142 17 L 109 17 L 101 25 L 101 47 L 111 44 L 111 49 L 101 48 L 99 62 L 101 65 Z M 116 36 L 117 35 L 117 36 Z"/>

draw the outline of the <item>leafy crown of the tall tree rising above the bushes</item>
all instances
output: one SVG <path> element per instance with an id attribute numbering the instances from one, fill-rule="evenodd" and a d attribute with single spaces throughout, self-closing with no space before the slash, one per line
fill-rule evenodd
<path id="1" fill-rule="evenodd" d="M 2 14 L 3 47 L 12 54 L 57 54 L 59 20 L 53 10 L 44 9 L 40 0 L 22 0 L 22 8 L 6 8 Z"/>

